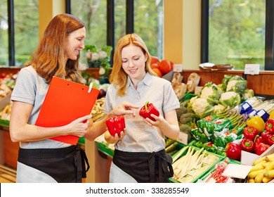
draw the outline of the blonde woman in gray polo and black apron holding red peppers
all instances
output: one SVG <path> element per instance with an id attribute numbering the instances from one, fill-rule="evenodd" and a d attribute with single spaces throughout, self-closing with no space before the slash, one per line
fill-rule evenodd
<path id="1" fill-rule="evenodd" d="M 164 136 L 178 137 L 176 108 L 180 104 L 171 82 L 156 77 L 150 61 L 148 48 L 137 34 L 126 34 L 117 42 L 103 111 L 110 113 L 123 101 L 138 109 L 131 108 L 134 115 L 125 115 L 123 136 L 105 133 L 107 141 L 115 143 L 110 182 L 169 182 L 173 175 Z M 151 115 L 155 121 L 138 113 L 146 101 L 159 110 L 159 117 Z"/>

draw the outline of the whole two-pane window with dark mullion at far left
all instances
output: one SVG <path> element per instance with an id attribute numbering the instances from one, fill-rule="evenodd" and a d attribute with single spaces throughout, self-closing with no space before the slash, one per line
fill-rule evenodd
<path id="1" fill-rule="evenodd" d="M 39 42 L 38 0 L 0 0 L 0 65 L 22 66 Z"/>

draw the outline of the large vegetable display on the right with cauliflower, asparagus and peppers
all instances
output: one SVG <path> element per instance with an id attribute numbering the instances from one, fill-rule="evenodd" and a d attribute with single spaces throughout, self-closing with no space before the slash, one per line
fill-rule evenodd
<path id="1" fill-rule="evenodd" d="M 258 139 L 266 132 L 266 122 L 271 121 L 273 101 L 254 96 L 252 89 L 247 89 L 247 81 L 233 75 L 226 75 L 222 84 L 208 82 L 198 94 L 185 92 L 180 101 L 178 122 L 181 132 L 188 136 L 188 144 L 166 139 L 165 151 L 174 159 L 170 182 L 251 183 L 249 174 L 239 178 L 222 173 L 230 164 L 241 165 L 246 151 L 260 156 L 249 146 L 254 143 L 263 150 L 263 142 Z M 98 148 L 102 152 L 109 149 L 107 154 L 112 154 L 113 147 L 103 141 L 98 141 Z M 264 182 L 271 182 L 271 172 L 266 176 Z"/>

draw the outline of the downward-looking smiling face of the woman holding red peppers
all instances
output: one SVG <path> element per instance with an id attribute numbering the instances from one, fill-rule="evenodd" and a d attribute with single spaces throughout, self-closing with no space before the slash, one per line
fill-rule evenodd
<path id="1" fill-rule="evenodd" d="M 122 49 L 122 68 L 131 80 L 140 82 L 145 77 L 145 62 L 148 56 L 139 46 L 130 44 Z"/>

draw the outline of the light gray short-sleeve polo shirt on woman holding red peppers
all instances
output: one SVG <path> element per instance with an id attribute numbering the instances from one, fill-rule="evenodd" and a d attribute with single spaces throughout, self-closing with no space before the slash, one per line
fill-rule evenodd
<path id="1" fill-rule="evenodd" d="M 116 93 L 117 89 L 110 85 L 103 105 L 104 113 L 109 113 L 123 101 L 140 106 L 140 108 L 145 105 L 146 101 L 149 101 L 153 103 L 161 115 L 180 107 L 174 89 L 171 87 L 171 82 L 154 77 L 149 73 L 139 82 L 137 89 L 133 88 L 133 84 L 128 77 L 126 95 L 117 97 Z M 164 148 L 164 134 L 157 127 L 151 127 L 143 122 L 142 117 L 139 115 L 140 108 L 135 112 L 136 117 L 125 115 L 126 136 L 122 141 L 115 144 L 115 148 L 120 151 L 152 152 Z"/>

